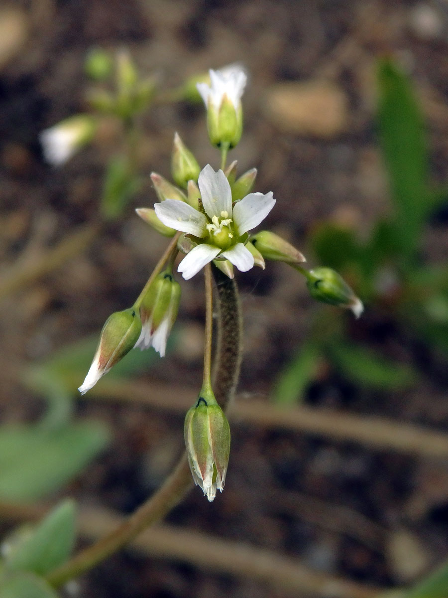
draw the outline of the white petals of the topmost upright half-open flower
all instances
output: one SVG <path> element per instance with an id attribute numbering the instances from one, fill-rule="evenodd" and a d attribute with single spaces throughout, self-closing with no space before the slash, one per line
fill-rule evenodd
<path id="1" fill-rule="evenodd" d="M 219 110 L 224 96 L 228 96 L 235 110 L 238 110 L 247 83 L 247 75 L 241 65 L 225 66 L 219 71 L 210 69 L 209 73 L 210 85 L 208 83 L 196 84 L 197 90 L 204 100 L 205 108 L 208 108 L 210 101 L 214 108 Z"/>

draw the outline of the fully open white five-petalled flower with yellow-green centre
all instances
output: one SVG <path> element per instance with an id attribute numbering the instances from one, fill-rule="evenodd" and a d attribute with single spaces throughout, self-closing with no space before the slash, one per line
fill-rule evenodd
<path id="1" fill-rule="evenodd" d="M 258 226 L 274 208 L 272 192 L 250 193 L 232 206 L 232 192 L 226 175 L 222 170 L 214 172 L 210 164 L 201 171 L 198 187 L 205 213 L 173 199 L 154 206 L 163 224 L 198 237 L 198 245 L 183 258 L 178 271 L 188 280 L 217 257 L 229 260 L 242 272 L 250 270 L 254 258 L 244 245 L 248 239 L 246 233 Z"/>

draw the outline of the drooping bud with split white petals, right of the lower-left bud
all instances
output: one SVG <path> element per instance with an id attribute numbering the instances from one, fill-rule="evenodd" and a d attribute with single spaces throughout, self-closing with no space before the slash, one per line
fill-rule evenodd
<path id="1" fill-rule="evenodd" d="M 180 303 L 180 285 L 173 278 L 171 271 L 159 274 L 143 297 L 140 306 L 142 333 L 136 347 L 148 349 L 154 347 L 165 355 L 167 340 L 177 318 Z"/>

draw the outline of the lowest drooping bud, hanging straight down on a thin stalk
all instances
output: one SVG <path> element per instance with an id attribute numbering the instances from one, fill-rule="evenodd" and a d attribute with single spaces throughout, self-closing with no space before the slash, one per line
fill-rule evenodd
<path id="1" fill-rule="evenodd" d="M 198 401 L 185 417 L 185 447 L 194 483 L 213 501 L 222 492 L 230 453 L 229 422 L 210 388 L 202 389 Z"/>

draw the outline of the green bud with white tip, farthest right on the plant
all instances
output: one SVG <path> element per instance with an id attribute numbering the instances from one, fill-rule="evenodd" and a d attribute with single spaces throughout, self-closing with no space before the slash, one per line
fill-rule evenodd
<path id="1" fill-rule="evenodd" d="M 307 275 L 306 286 L 314 299 L 351 309 L 356 318 L 364 311 L 362 301 L 354 294 L 350 286 L 335 270 L 315 268 Z"/>

